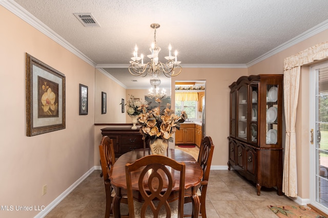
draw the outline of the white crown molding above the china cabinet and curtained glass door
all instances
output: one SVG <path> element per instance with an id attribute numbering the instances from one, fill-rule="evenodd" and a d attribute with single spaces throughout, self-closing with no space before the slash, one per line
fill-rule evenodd
<path id="1" fill-rule="evenodd" d="M 309 29 L 308 31 L 305 31 L 301 34 L 299 34 L 298 36 L 292 38 L 291 40 L 288 40 L 284 43 L 282 43 L 280 46 L 270 50 L 269 52 L 259 56 L 258 58 L 255 58 L 254 60 L 248 62 L 246 64 L 247 68 L 253 66 L 254 64 L 265 60 L 285 49 L 288 49 L 294 45 L 296 45 L 297 43 L 304 41 L 305 39 L 308 39 L 324 30 L 328 29 L 328 20 L 323 21 L 322 23 L 318 24 L 317 26 L 314 26 L 313 28 Z"/>

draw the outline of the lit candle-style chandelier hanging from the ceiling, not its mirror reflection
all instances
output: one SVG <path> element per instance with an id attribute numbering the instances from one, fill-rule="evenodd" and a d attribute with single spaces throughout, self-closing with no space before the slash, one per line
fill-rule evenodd
<path id="1" fill-rule="evenodd" d="M 130 61 L 131 65 L 129 66 L 129 72 L 133 76 L 142 76 L 145 77 L 147 74 L 151 76 L 155 76 L 158 78 L 160 74 L 164 74 L 167 77 L 177 76 L 181 73 L 182 68 L 179 65 L 181 61 L 177 61 L 177 51 L 175 51 L 174 56 L 172 56 L 171 44 L 169 45 L 169 56 L 166 56 L 166 63 L 162 63 L 158 61 L 158 53 L 160 52 L 160 47 L 157 46 L 156 42 L 156 29 L 160 27 L 159 24 L 151 24 L 151 28 L 154 29 L 154 42 L 152 46 L 149 48 L 151 51 L 150 55 L 147 55 L 150 58 L 150 62 L 144 63 L 144 55 L 141 54 L 138 57 L 138 47 L 137 45 L 134 48 L 133 57 L 131 57 L 132 61 Z M 140 61 L 141 60 L 141 61 Z M 156 88 L 155 88 L 156 89 Z"/>

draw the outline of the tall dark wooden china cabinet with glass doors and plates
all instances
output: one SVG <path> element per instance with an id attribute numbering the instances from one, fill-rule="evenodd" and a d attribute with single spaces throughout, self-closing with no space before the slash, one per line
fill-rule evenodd
<path id="1" fill-rule="evenodd" d="M 242 76 L 230 91 L 228 169 L 282 195 L 283 75 Z"/>

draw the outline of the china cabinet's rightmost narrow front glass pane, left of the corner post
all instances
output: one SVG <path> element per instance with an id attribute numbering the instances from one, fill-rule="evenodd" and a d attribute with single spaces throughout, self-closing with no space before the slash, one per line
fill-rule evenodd
<path id="1" fill-rule="evenodd" d="M 252 111 L 250 122 L 250 136 L 249 139 L 253 143 L 257 143 L 257 126 L 258 126 L 258 83 L 251 84 L 251 97 L 252 97 Z"/>

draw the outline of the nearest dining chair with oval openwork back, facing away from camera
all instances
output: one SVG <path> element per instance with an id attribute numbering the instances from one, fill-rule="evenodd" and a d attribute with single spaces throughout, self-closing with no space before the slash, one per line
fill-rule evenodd
<path id="1" fill-rule="evenodd" d="M 133 197 L 132 175 L 138 173 L 139 200 Z M 172 173 L 179 173 L 174 181 Z M 134 217 L 183 217 L 185 196 L 185 163 L 161 155 L 149 155 L 126 164 L 126 179 L 130 218 Z M 178 199 L 172 198 L 173 185 L 179 183 Z"/>

